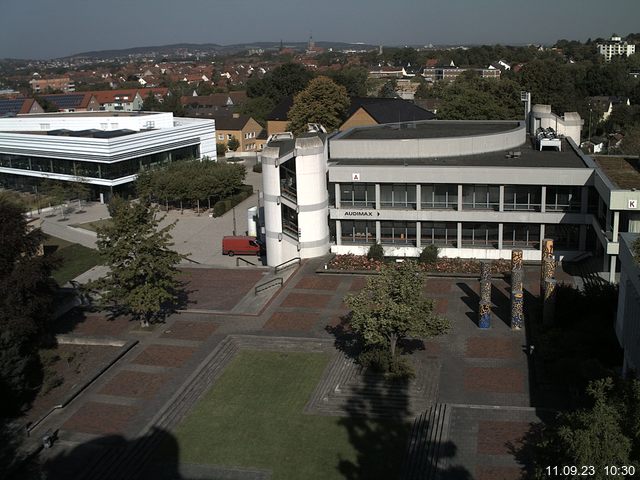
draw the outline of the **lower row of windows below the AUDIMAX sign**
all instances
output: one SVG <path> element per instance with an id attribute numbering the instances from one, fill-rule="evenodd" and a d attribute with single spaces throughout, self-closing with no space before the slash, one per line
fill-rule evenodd
<path id="1" fill-rule="evenodd" d="M 342 244 L 372 244 L 376 241 L 376 222 L 342 220 Z M 462 223 L 462 247 L 498 248 L 497 223 Z M 458 246 L 458 224 L 455 222 L 420 222 L 420 243 L 440 247 Z M 380 222 L 380 243 L 415 246 L 416 222 Z M 546 225 L 545 236 L 553 238 L 556 248 L 578 249 L 578 225 Z M 540 225 L 505 223 L 502 227 L 503 248 L 539 248 Z"/>

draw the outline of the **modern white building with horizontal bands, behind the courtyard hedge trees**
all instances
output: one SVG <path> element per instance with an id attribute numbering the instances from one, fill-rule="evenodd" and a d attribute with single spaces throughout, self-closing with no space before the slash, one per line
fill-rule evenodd
<path id="1" fill-rule="evenodd" d="M 82 181 L 95 198 L 126 192 L 145 168 L 216 160 L 215 122 L 161 112 L 75 112 L 0 119 L 0 185 Z"/>

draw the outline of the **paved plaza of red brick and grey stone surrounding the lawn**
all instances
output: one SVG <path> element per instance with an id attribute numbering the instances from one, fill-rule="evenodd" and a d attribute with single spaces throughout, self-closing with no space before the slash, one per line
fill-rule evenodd
<path id="1" fill-rule="evenodd" d="M 190 304 L 196 307 L 150 331 L 100 314 L 65 325 L 70 335 L 137 344 L 34 432 L 38 438 L 47 429 L 59 429 L 56 445 L 45 451 L 54 477 L 269 478 L 265 471 L 184 464 L 178 452 L 175 465 L 161 467 L 149 452 L 167 438 L 170 443 L 172 429 L 242 348 L 330 352 L 334 360 L 307 410 L 348 414 L 345 399 L 357 391 L 360 380 L 350 360 L 335 348 L 330 332 L 348 313 L 344 296 L 359 291 L 366 277 L 316 273 L 324 261 L 306 261 L 290 270 L 280 290 L 259 294 L 247 309 L 241 306 L 256 297 L 253 288 L 264 281 L 265 270 L 192 268 L 185 276 Z M 531 298 L 537 295 L 537 275 L 531 270 L 526 276 Z M 474 278 L 427 280 L 425 294 L 450 319 L 452 331 L 424 342 L 424 348 L 412 354 L 419 379 L 407 394 L 408 403 L 412 416 L 447 405 L 439 421 L 440 441 L 448 448 L 439 467 L 468 474 L 459 478 L 515 479 L 520 467 L 513 448 L 530 424 L 539 421 L 530 401 L 525 332 L 508 326 L 509 290 L 502 279 L 493 281 L 492 327 L 478 329 L 477 292 Z M 338 383 L 344 385 L 342 396 L 335 393 Z M 376 404 L 375 392 L 368 400 L 372 414 L 389 408 Z M 76 460 L 79 455 L 81 460 Z"/>

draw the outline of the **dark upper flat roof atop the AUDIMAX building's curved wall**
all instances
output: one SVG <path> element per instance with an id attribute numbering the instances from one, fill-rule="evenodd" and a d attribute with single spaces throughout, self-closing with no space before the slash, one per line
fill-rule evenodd
<path id="1" fill-rule="evenodd" d="M 426 120 L 356 127 L 335 140 L 405 140 L 415 138 L 473 137 L 505 133 L 520 127 L 517 121 L 479 122 Z"/>

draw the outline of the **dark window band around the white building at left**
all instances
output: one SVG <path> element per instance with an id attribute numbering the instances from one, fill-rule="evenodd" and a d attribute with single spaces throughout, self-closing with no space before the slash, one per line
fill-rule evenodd
<path id="1" fill-rule="evenodd" d="M 45 173 L 59 173 L 73 175 L 75 177 L 114 180 L 135 175 L 140 172 L 140 170 L 153 168 L 169 162 L 198 158 L 200 156 L 199 152 L 200 147 L 193 145 L 115 163 L 96 163 L 81 160 L 63 160 L 60 158 L 0 154 L 0 167 Z"/>

